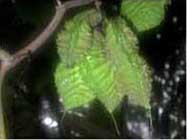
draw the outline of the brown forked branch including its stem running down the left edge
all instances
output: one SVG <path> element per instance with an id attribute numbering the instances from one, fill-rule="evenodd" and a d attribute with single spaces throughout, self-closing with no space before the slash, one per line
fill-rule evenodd
<path id="1" fill-rule="evenodd" d="M 5 75 L 7 72 L 18 64 L 20 64 L 29 54 L 34 54 L 38 49 L 44 46 L 44 43 L 50 38 L 50 36 L 55 32 L 58 25 L 61 23 L 62 18 L 67 10 L 83 5 L 90 4 L 95 0 L 71 0 L 64 4 L 57 0 L 56 12 L 52 20 L 49 22 L 47 27 L 28 45 L 23 47 L 23 49 L 17 51 L 13 55 L 9 55 L 0 48 L 0 138 L 7 138 L 5 134 L 4 126 L 4 111 L 2 104 L 2 85 L 4 83 Z"/>

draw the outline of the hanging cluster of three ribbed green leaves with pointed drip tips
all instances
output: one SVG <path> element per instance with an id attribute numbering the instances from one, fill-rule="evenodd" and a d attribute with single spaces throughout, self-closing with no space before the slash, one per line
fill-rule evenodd
<path id="1" fill-rule="evenodd" d="M 90 29 L 87 16 L 78 17 L 67 22 L 57 39 L 55 84 L 65 108 L 98 99 L 112 113 L 125 95 L 131 104 L 150 108 L 150 72 L 125 21 L 104 19 L 103 35 Z"/>

